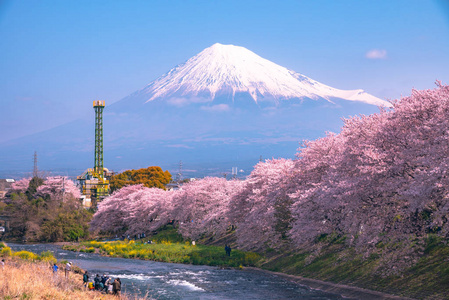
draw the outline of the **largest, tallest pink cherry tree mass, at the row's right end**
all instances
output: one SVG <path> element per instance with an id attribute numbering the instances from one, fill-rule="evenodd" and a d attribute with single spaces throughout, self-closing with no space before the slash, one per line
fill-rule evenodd
<path id="1" fill-rule="evenodd" d="M 306 143 L 291 194 L 297 245 L 332 232 L 356 246 L 447 235 L 448 109 L 448 86 L 413 91 Z"/>

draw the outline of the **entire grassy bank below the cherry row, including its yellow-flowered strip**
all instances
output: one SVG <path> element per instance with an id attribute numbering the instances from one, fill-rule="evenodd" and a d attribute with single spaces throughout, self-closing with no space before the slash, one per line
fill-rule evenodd
<path id="1" fill-rule="evenodd" d="M 157 238 L 156 238 L 157 237 Z M 254 266 L 269 271 L 355 286 L 414 299 L 449 299 L 449 247 L 429 236 L 424 255 L 408 269 L 385 270 L 385 261 L 403 259 L 385 247 L 369 257 L 347 248 L 342 240 L 321 241 L 316 253 L 276 253 L 265 255 L 232 250 L 225 255 L 222 246 L 192 245 L 182 242 L 172 228 L 152 237 L 156 244 L 140 241 L 84 242 L 66 245 L 73 251 L 97 252 L 114 257 L 148 259 L 162 262 L 201 264 L 223 267 Z M 145 239 L 146 241 L 148 239 Z M 232 237 L 228 237 L 232 240 Z M 390 251 L 385 253 L 382 251 Z M 389 275 L 390 274 L 390 275 Z"/>

